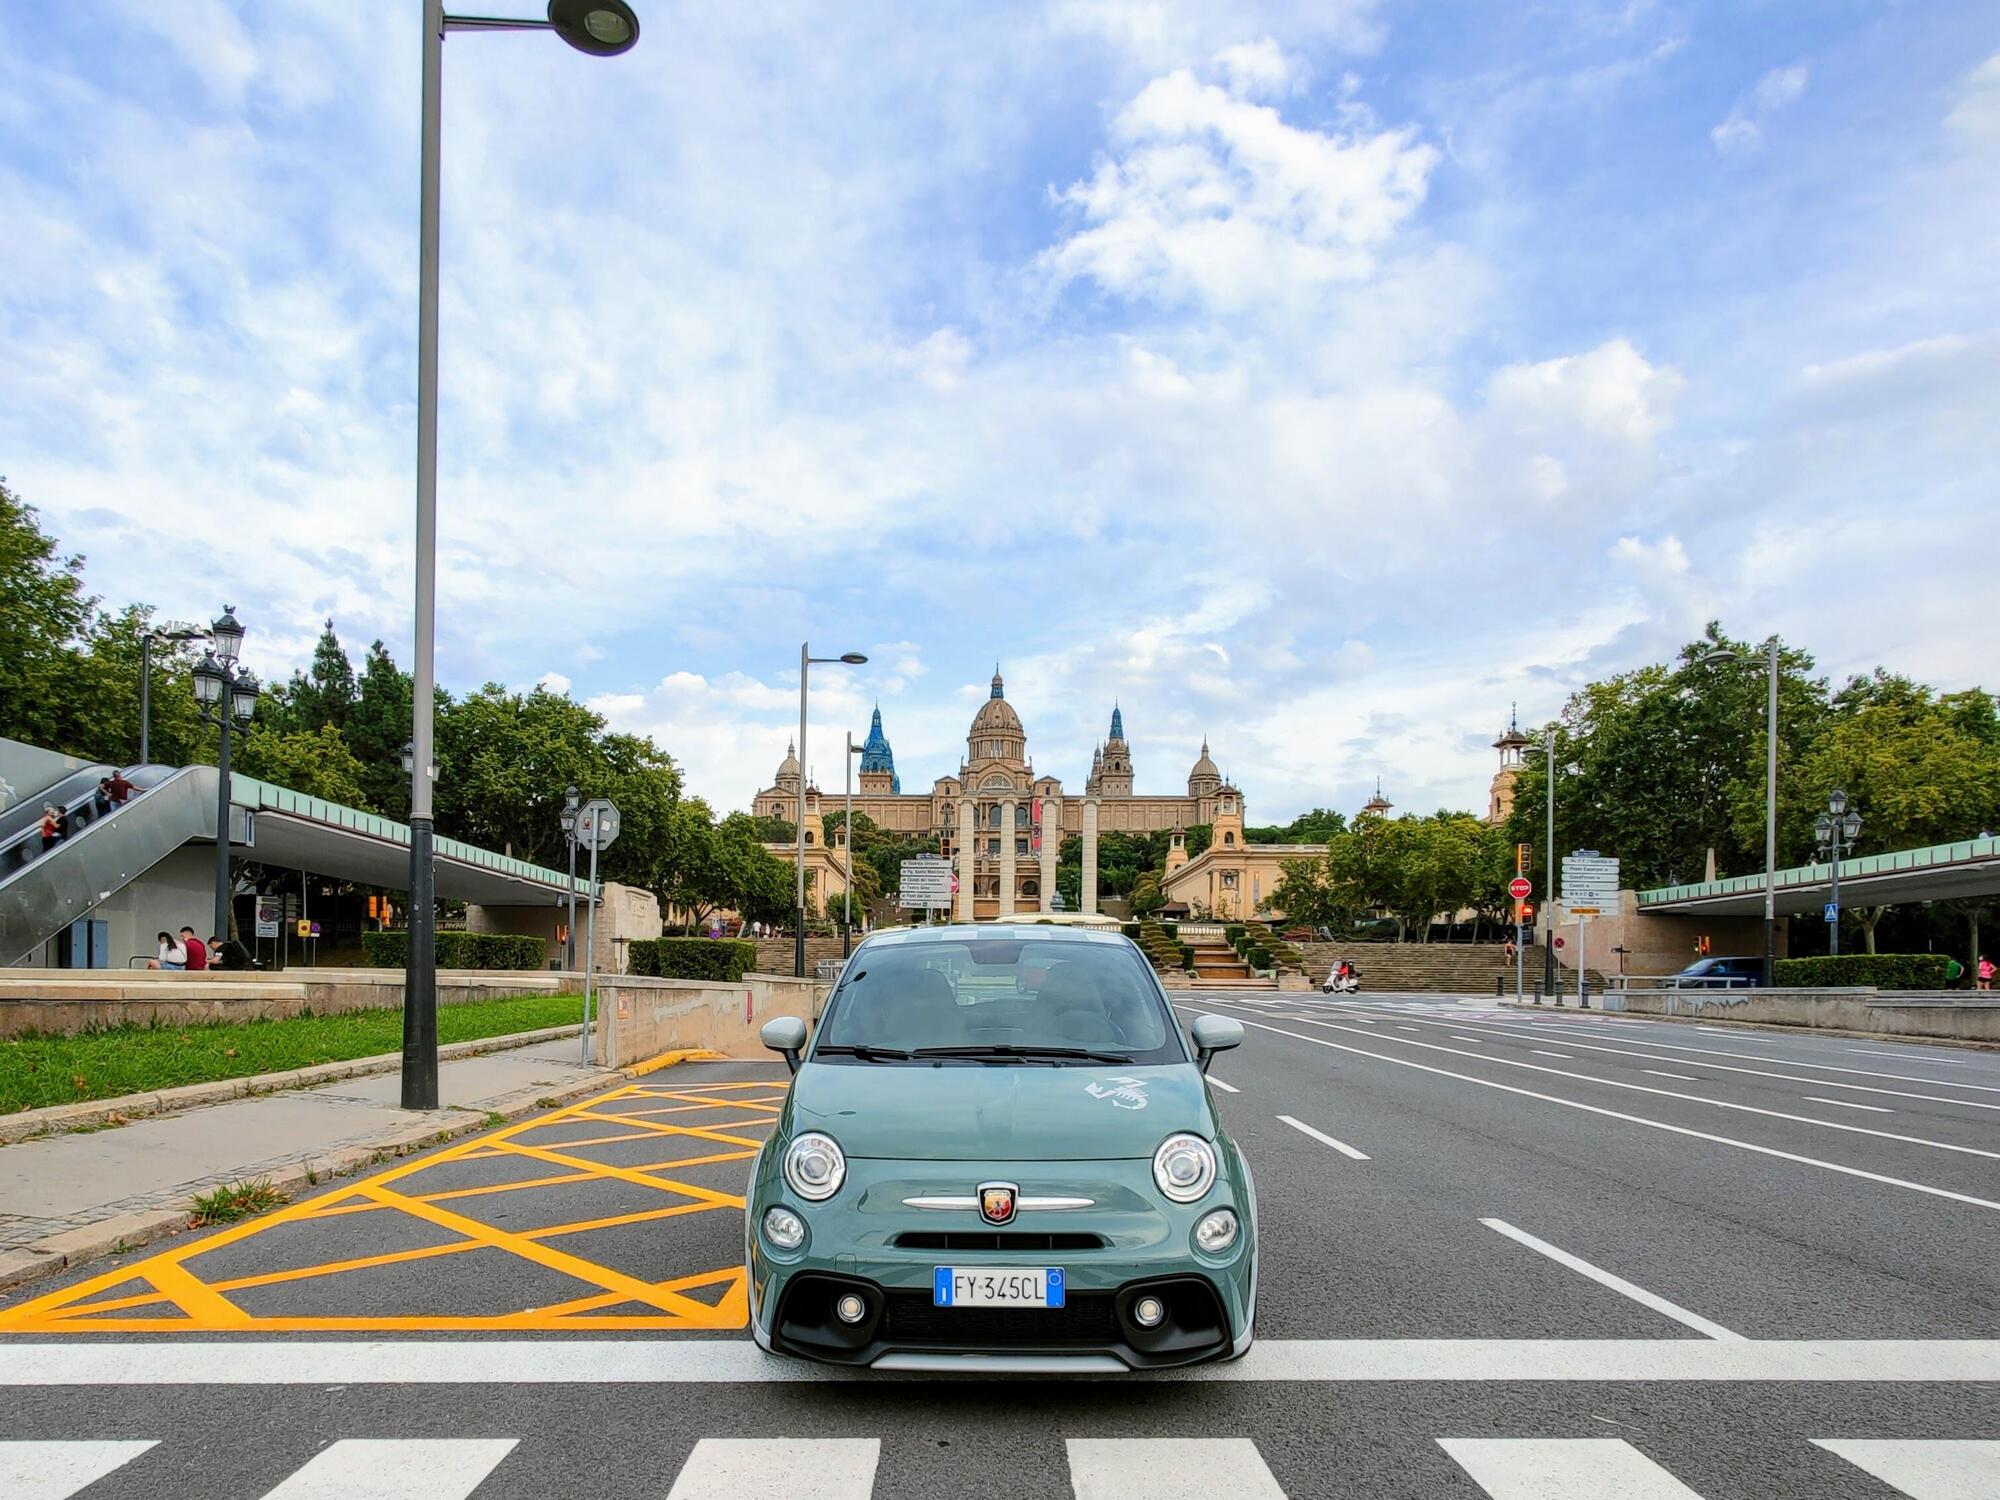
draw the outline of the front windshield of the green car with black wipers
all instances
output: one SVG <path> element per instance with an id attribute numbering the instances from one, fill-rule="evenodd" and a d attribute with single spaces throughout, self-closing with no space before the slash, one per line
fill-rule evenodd
<path id="1" fill-rule="evenodd" d="M 858 952 L 812 1056 L 1062 1066 L 1188 1054 L 1132 948 L 982 936 Z"/>

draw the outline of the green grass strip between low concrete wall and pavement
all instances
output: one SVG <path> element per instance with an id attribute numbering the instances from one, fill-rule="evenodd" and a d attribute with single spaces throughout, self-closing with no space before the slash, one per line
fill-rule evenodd
<path id="1" fill-rule="evenodd" d="M 574 1026 L 582 1018 L 584 1000 L 574 994 L 468 1000 L 438 1006 L 438 1042 L 514 1036 L 544 1026 Z M 0 1042 L 0 1114 L 218 1078 L 250 1078 L 318 1062 L 352 1062 L 400 1048 L 402 1010 L 16 1036 Z"/>

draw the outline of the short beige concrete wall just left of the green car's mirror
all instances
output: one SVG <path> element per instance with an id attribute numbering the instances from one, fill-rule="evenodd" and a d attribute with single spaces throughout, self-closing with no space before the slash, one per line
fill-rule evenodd
<path id="1" fill-rule="evenodd" d="M 774 1016 L 814 1020 L 828 988 L 776 974 L 746 974 L 738 984 L 638 974 L 602 980 L 594 1056 L 606 1068 L 684 1048 L 776 1060 L 758 1030 Z"/>

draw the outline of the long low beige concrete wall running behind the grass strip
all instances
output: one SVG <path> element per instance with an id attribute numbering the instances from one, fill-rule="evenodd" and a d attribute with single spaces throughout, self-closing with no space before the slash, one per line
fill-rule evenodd
<path id="1" fill-rule="evenodd" d="M 438 1004 L 504 1000 L 522 994 L 576 994 L 576 974 L 440 970 Z M 282 1020 L 312 1012 L 402 1008 L 402 972 L 386 968 L 290 968 L 282 974 L 166 970 L 0 972 L 0 1038 L 24 1032 L 70 1036 L 100 1026 L 202 1026 Z"/>

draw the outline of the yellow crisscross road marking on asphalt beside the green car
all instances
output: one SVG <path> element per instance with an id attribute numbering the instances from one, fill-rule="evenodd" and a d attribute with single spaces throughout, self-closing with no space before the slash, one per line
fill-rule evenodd
<path id="1" fill-rule="evenodd" d="M 684 1254 L 696 1264 L 662 1274 L 672 1242 L 640 1250 L 630 1238 L 620 1244 L 598 1232 L 742 1210 L 738 1192 L 690 1178 L 756 1156 L 782 1102 L 784 1086 L 770 1080 L 668 1086 L 646 1078 L 4 1308 L 0 1334 L 742 1328 L 748 1284 L 740 1260 L 718 1266 L 714 1248 L 694 1248 Z M 494 1172 L 498 1180 L 482 1180 Z M 564 1210 L 566 1188 L 600 1190 L 588 1200 L 598 1212 L 578 1218 L 574 1206 Z M 504 1224 L 480 1216 L 500 1194 L 508 1194 L 506 1206 L 490 1212 Z M 372 1226 L 384 1214 L 410 1226 L 390 1240 L 402 1248 L 376 1248 L 382 1238 Z M 218 1256 L 232 1246 L 260 1248 L 260 1236 L 268 1236 L 262 1244 L 272 1246 L 274 1268 L 250 1270 L 242 1256 Z M 734 1246 L 736 1236 L 726 1242 Z M 378 1274 L 370 1276 L 370 1300 L 388 1308 L 380 1314 L 258 1312 L 258 1298 L 242 1296 L 326 1280 L 338 1298 L 342 1276 L 462 1254 L 482 1258 L 476 1280 L 488 1294 L 510 1286 L 502 1264 L 530 1272 L 514 1280 L 518 1296 L 534 1304 L 462 1312 L 438 1302 L 462 1298 L 464 1278 L 408 1278 L 398 1290 L 402 1282 L 384 1284 Z M 224 1264 L 230 1270 L 220 1270 Z M 564 1282 L 574 1294 L 560 1294 Z"/>

